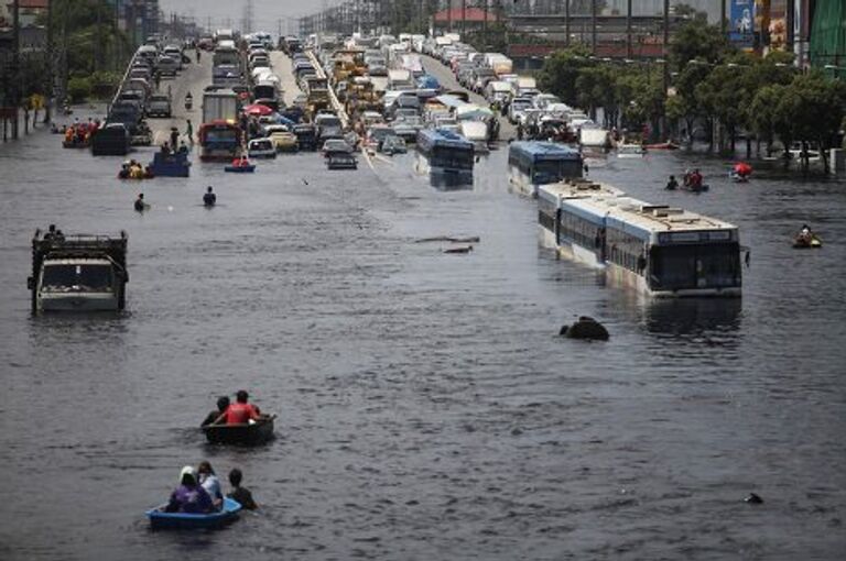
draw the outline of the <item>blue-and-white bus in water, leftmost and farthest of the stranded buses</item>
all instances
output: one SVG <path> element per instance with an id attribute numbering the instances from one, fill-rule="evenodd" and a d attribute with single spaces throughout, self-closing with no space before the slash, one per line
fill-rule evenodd
<path id="1" fill-rule="evenodd" d="M 427 174 L 433 187 L 473 185 L 473 143 L 443 129 L 424 129 L 417 133 L 415 169 Z"/>

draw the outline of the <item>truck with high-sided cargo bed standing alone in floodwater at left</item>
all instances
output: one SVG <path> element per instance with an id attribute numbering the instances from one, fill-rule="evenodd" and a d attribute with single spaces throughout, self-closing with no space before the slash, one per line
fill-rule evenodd
<path id="1" fill-rule="evenodd" d="M 32 312 L 119 311 L 126 306 L 127 232 L 65 235 L 51 230 L 32 239 Z"/>

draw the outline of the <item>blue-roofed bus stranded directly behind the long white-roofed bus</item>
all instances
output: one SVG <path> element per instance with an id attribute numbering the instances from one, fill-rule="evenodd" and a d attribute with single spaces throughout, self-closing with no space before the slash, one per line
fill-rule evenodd
<path id="1" fill-rule="evenodd" d="M 538 197 L 541 185 L 582 177 L 582 154 L 554 142 L 512 142 L 508 148 L 508 180 L 528 197 Z"/>

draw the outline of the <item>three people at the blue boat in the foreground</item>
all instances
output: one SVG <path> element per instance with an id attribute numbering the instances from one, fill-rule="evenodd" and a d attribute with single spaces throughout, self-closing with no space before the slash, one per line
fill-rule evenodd
<path id="1" fill-rule="evenodd" d="M 243 474 L 239 469 L 229 472 L 229 484 L 232 491 L 228 498 L 239 503 L 249 510 L 258 508 L 252 493 L 241 486 Z M 207 461 L 199 462 L 194 469 L 186 465 L 180 472 L 180 485 L 171 493 L 171 498 L 164 507 L 165 513 L 209 514 L 224 507 L 224 492 L 220 480 Z"/>

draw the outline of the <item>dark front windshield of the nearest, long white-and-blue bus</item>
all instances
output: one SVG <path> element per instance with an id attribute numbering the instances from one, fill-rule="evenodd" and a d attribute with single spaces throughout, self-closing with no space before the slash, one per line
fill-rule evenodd
<path id="1" fill-rule="evenodd" d="M 740 286 L 737 243 L 655 245 L 650 252 L 650 262 L 653 289 Z"/>

